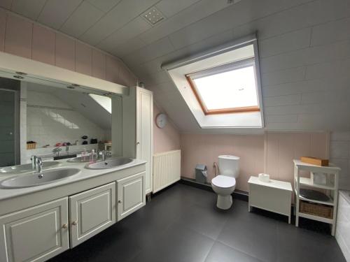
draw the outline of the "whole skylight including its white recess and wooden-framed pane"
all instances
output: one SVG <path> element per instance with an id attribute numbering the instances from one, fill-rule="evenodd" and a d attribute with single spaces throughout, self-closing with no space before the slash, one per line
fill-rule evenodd
<path id="1" fill-rule="evenodd" d="M 264 127 L 255 34 L 162 64 L 201 129 Z"/>

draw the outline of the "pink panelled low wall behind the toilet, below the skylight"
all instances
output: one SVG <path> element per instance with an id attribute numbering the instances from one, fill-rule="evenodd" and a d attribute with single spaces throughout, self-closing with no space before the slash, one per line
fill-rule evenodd
<path id="1" fill-rule="evenodd" d="M 251 175 L 268 173 L 272 179 L 293 181 L 293 159 L 328 157 L 328 133 L 267 133 L 265 135 L 181 134 L 181 174 L 195 177 L 197 163 L 207 165 L 214 177 L 218 155 L 241 157 L 237 189 L 248 190 Z"/>

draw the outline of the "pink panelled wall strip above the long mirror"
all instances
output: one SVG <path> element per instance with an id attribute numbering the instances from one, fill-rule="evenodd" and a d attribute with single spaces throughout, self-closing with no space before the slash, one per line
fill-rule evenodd
<path id="1" fill-rule="evenodd" d="M 120 85 L 137 78 L 118 57 L 0 8 L 0 51 Z"/>

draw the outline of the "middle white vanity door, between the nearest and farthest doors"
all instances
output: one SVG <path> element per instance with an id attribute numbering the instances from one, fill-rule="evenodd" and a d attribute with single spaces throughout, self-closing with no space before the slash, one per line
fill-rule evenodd
<path id="1" fill-rule="evenodd" d="M 116 223 L 116 182 L 69 197 L 71 247 Z"/>

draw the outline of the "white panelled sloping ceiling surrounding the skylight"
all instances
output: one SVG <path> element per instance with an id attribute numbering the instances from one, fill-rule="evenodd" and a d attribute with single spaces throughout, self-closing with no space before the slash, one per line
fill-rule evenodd
<path id="1" fill-rule="evenodd" d="M 123 59 L 181 131 L 210 132 L 199 129 L 160 64 L 257 31 L 266 129 L 349 130 L 349 30 L 349 1 L 244 0 Z"/>

